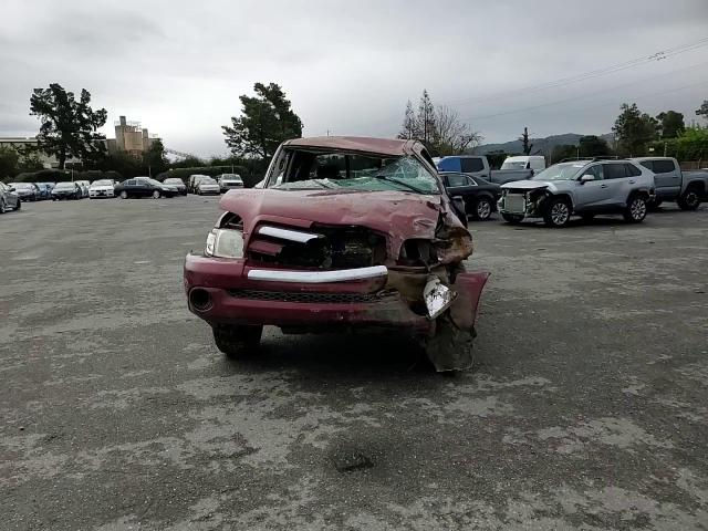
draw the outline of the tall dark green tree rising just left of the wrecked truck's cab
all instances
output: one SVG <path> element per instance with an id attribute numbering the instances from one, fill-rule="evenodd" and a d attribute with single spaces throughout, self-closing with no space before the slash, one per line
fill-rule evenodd
<path id="1" fill-rule="evenodd" d="M 240 96 L 241 116 L 222 126 L 226 145 L 241 157 L 269 158 L 289 138 L 302 136 L 302 121 L 292 111 L 285 93 L 275 83 L 253 85 L 256 96 Z"/>

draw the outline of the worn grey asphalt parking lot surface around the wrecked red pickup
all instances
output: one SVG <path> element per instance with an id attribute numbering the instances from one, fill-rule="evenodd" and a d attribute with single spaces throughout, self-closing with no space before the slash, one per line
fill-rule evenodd
<path id="1" fill-rule="evenodd" d="M 228 362 L 184 256 L 216 198 L 0 217 L 0 528 L 708 529 L 708 209 L 471 223 L 477 367 L 405 336 Z"/>

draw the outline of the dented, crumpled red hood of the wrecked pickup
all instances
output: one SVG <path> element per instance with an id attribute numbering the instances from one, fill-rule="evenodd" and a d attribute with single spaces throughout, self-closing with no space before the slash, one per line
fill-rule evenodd
<path id="1" fill-rule="evenodd" d="M 389 257 L 398 256 L 404 240 L 438 238 L 436 228 L 442 219 L 448 237 L 456 235 L 462 240 L 469 239 L 469 243 L 462 243 L 462 249 L 452 253 L 459 253 L 464 259 L 471 253 L 471 238 L 441 201 L 441 196 L 402 191 L 249 188 L 227 192 L 220 207 L 241 217 L 247 244 L 253 228 L 261 222 L 303 229 L 314 223 L 351 225 L 386 235 Z"/>

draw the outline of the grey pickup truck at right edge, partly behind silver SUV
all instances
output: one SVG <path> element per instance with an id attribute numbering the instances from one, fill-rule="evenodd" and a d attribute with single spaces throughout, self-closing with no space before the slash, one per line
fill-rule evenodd
<path id="1" fill-rule="evenodd" d="M 669 157 L 638 157 L 635 163 L 654 173 L 656 199 L 652 207 L 663 201 L 676 201 L 683 210 L 696 210 L 708 200 L 708 171 L 681 171 L 678 162 Z"/>

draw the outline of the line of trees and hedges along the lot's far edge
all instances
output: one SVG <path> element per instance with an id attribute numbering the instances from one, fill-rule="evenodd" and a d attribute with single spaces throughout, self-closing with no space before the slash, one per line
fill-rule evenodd
<path id="1" fill-rule="evenodd" d="M 211 157 L 208 160 L 186 157 L 170 163 L 160 139 L 154 139 L 140 157 L 108 153 L 106 138 L 98 133 L 106 123 L 107 112 L 92 107 L 91 93 L 85 88 L 77 95 L 59 83 L 34 88 L 30 97 L 30 115 L 40 121 L 38 145 L 21 149 L 0 146 L 0 176 L 41 169 L 40 152 L 53 155 L 62 170 L 81 160 L 84 170 L 117 171 L 123 177 L 158 175 L 170 168 L 227 166 L 238 166 L 246 174 L 262 174 L 283 140 L 302 136 L 303 123 L 279 84 L 256 83 L 253 92 L 253 95 L 239 97 L 240 115 L 231 117 L 230 124 L 221 127 L 230 157 Z M 687 127 L 684 115 L 676 111 L 649 116 L 636 104 L 625 103 L 612 131 L 615 136 L 613 146 L 601 137 L 587 135 L 580 138 L 577 145 L 555 146 L 548 155 L 551 162 L 613 154 L 642 156 L 666 153 L 679 159 L 701 159 L 708 155 L 708 129 Z M 408 100 L 397 137 L 423 142 L 434 156 L 469 153 L 483 138 L 460 118 L 457 111 L 446 105 L 434 105 L 427 90 L 423 91 L 417 108 Z M 540 153 L 534 150 L 528 127 L 523 128 L 519 140 L 523 154 Z M 501 158 L 506 154 L 489 155 Z"/>

